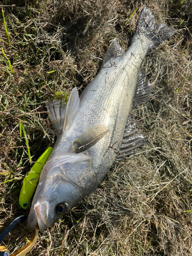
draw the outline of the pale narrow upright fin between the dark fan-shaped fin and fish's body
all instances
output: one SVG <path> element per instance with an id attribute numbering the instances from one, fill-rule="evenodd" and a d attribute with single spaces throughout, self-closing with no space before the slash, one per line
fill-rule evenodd
<path id="1" fill-rule="evenodd" d="M 66 117 L 63 125 L 63 131 L 65 131 L 67 126 L 70 124 L 78 108 L 79 108 L 79 95 L 78 95 L 77 88 L 75 87 L 73 88 L 69 97 L 69 101 L 67 103 Z"/>

